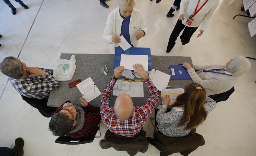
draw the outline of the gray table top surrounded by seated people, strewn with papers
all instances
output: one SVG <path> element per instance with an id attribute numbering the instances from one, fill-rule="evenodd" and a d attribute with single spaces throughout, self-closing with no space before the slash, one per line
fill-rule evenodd
<path id="1" fill-rule="evenodd" d="M 95 85 L 100 92 L 103 92 L 104 88 L 110 81 L 114 74 L 114 55 L 109 54 L 61 54 L 62 59 L 70 59 L 71 55 L 75 55 L 76 58 L 76 70 L 72 80 L 61 81 L 61 86 L 51 91 L 48 106 L 60 106 L 63 102 L 70 100 L 72 103 L 76 103 L 81 93 L 77 87 L 69 88 L 68 83 L 77 79 L 81 81 L 91 77 Z M 168 65 L 178 65 L 179 63 L 188 62 L 192 65 L 191 57 L 181 56 L 151 56 L 152 69 L 160 70 L 166 74 L 170 74 Z M 109 73 L 105 75 L 101 73 L 101 67 L 105 68 L 105 64 L 108 67 Z M 106 71 L 106 68 L 105 68 Z M 192 83 L 192 80 L 170 80 L 168 86 L 171 88 L 184 88 L 186 84 Z M 161 95 L 160 91 L 159 94 Z M 117 96 L 110 97 L 110 105 L 114 106 Z M 134 105 L 142 106 L 143 103 L 149 97 L 149 93 L 146 85 L 144 84 L 144 97 L 132 97 Z M 100 107 L 100 96 L 90 101 L 90 104 L 96 107 Z M 161 98 L 157 102 L 157 107 L 162 104 Z"/>

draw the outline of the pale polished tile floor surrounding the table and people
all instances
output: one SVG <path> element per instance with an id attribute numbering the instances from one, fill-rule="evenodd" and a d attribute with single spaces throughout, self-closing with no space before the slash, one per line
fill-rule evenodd
<path id="1" fill-rule="evenodd" d="M 236 55 L 256 58 L 256 35 L 250 37 L 247 24 L 252 20 L 236 17 L 246 14 L 240 11 L 241 0 L 220 0 L 212 20 L 204 34 L 192 36 L 190 43 L 177 43 L 170 53 L 166 47 L 170 33 L 179 17 L 178 11 L 173 18 L 166 14 L 174 0 L 137 0 L 135 6 L 143 13 L 149 31 L 140 39 L 138 47 L 151 48 L 152 55 L 191 56 L 193 64 L 225 64 Z M 23 9 L 15 1 L 17 14 L 12 15 L 7 5 L 0 1 L 0 61 L 7 56 L 17 57 L 32 26 L 28 39 L 21 51 L 20 59 L 27 66 L 52 68 L 61 53 L 113 54 L 111 46 L 102 40 L 102 33 L 108 14 L 117 7 L 117 0 L 108 1 L 109 9 L 99 6 L 98 0 L 24 0 L 29 6 Z M 242 75 L 235 85 L 235 93 L 225 102 L 219 102 L 209 113 L 207 120 L 197 128 L 204 136 L 206 144 L 191 156 L 255 156 L 256 155 L 256 62 L 251 70 Z M 3 91 L 8 77 L 0 73 L 0 91 Z M 25 141 L 25 156 L 45 155 L 128 155 L 113 148 L 102 150 L 98 143 L 107 128 L 101 123 L 102 136 L 93 143 L 68 146 L 55 144 L 57 138 L 48 130 L 49 118 L 22 100 L 16 90 L 7 84 L 0 100 L 1 126 L 0 146 L 11 147 L 15 138 Z M 153 137 L 153 127 L 146 122 L 144 130 Z M 146 153 L 138 156 L 159 155 L 160 152 L 149 145 Z M 181 154 L 176 153 L 174 156 Z"/>

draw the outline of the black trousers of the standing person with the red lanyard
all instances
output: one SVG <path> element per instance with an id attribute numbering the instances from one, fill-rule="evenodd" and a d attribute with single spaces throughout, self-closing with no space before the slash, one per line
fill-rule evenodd
<path id="1" fill-rule="evenodd" d="M 175 45 L 175 41 L 177 40 L 177 37 L 180 35 L 180 33 L 183 29 L 184 29 L 184 31 L 181 35 L 181 42 L 187 44 L 197 28 L 198 27 L 196 27 L 196 28 L 187 27 L 184 24 L 182 24 L 181 21 L 178 19 L 174 29 L 172 30 L 171 36 L 169 38 L 167 50 L 173 48 L 173 46 Z"/>

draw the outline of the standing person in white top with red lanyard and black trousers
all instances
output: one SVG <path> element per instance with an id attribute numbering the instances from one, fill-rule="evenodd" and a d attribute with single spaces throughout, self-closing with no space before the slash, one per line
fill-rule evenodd
<path id="1" fill-rule="evenodd" d="M 202 23 L 200 33 L 197 35 L 197 37 L 200 37 L 205 31 L 205 28 L 218 5 L 219 0 L 181 0 L 180 18 L 170 35 L 166 53 L 171 51 L 175 45 L 177 37 L 184 28 L 185 29 L 180 36 L 182 45 L 189 42 L 193 33 Z"/>

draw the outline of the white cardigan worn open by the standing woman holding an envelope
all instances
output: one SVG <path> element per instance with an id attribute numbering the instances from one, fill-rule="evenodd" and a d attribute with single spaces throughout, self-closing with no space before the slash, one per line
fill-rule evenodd
<path id="1" fill-rule="evenodd" d="M 123 22 L 123 18 L 119 13 L 119 8 L 114 9 L 109 13 L 106 27 L 102 35 L 103 40 L 111 44 L 111 47 L 114 50 L 114 52 L 115 52 L 115 47 L 118 46 L 118 44 L 112 41 L 112 36 L 114 35 L 120 36 L 122 22 Z M 130 18 L 129 33 L 130 33 L 131 43 L 133 44 L 134 47 L 136 47 L 139 42 L 139 40 L 136 40 L 135 36 L 141 30 L 145 32 L 144 36 L 146 36 L 148 29 L 147 29 L 147 24 L 144 20 L 144 17 L 140 12 L 140 10 L 133 8 L 133 12 Z"/>

